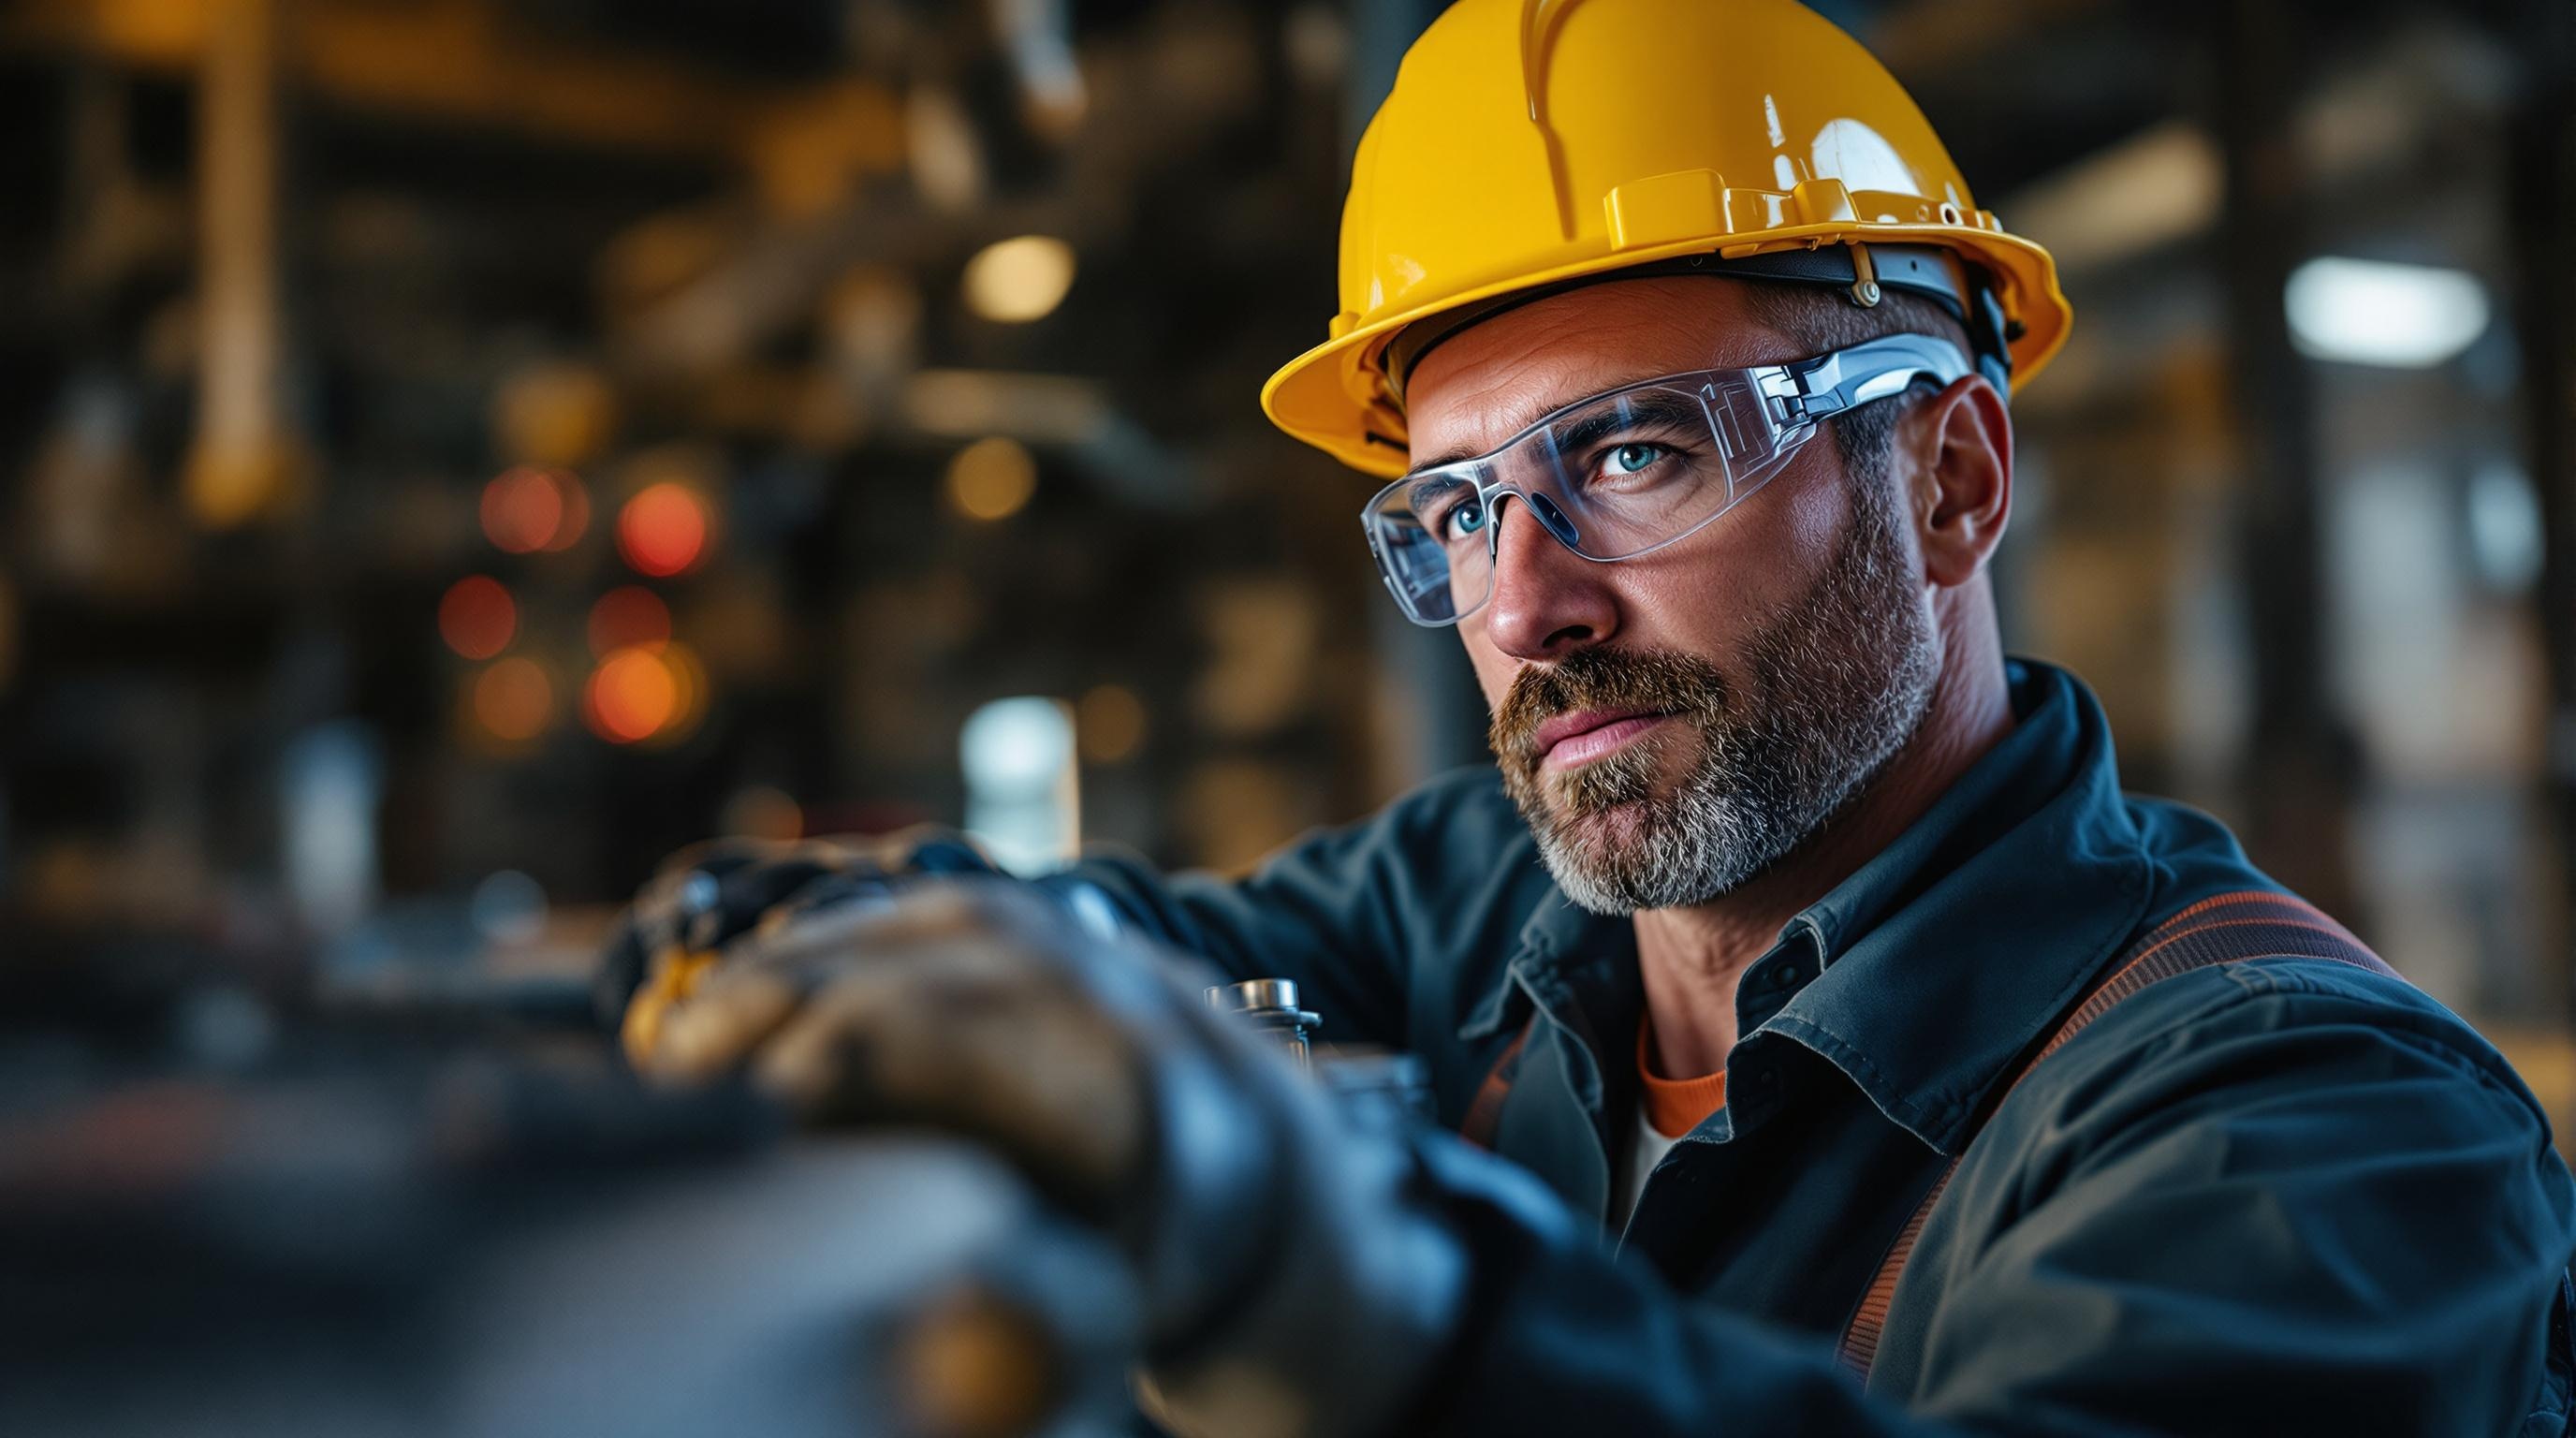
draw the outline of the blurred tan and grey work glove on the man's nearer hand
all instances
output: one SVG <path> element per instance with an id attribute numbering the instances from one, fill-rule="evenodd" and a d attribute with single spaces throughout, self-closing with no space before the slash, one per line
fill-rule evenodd
<path id="1" fill-rule="evenodd" d="M 1414 1201 L 1406 1139 L 1345 1126 L 1203 982 L 1025 887 L 925 881 L 752 935 L 639 1069 L 747 1072 L 814 1124 L 1015 1160 L 1126 1255 L 1182 1430 L 1383 1428 L 1455 1325 L 1466 1255 Z"/>

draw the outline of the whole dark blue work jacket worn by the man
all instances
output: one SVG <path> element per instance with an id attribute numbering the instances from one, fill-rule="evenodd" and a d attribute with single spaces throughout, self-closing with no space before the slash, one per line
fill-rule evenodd
<path id="1" fill-rule="evenodd" d="M 1321 1039 L 1422 1054 L 1450 1126 L 1538 1018 L 1494 1149 L 1561 1209 L 1440 1149 L 1481 1289 L 1425 1428 L 2555 1433 L 2576 1185 L 2548 1118 L 2468 1023 L 2321 959 L 2151 984 L 2032 1069 L 1935 1209 L 1868 1389 L 1834 1366 L 2014 1059 L 2136 935 L 2272 887 L 2215 820 L 2120 794 L 2074 675 L 2020 660 L 2012 701 L 2014 732 L 1747 969 L 1726 1108 L 1623 1234 L 1636 935 L 1566 902 L 1492 768 L 1242 881 L 1079 876 L 1229 974 L 1296 979 Z"/>

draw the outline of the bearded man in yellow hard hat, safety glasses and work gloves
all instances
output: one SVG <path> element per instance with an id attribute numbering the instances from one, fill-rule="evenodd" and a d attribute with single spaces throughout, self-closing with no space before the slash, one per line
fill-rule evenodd
<path id="1" fill-rule="evenodd" d="M 649 1072 L 1015 1155 L 1131 1255 L 1193 1430 L 2563 1428 L 2532 1095 L 2002 657 L 2007 384 L 2069 312 L 1865 52 L 1466 0 L 1342 247 L 1265 405 L 1391 479 L 1497 768 L 1239 884 L 768 925 L 662 966 Z M 1337 1131 L 1064 912 L 1296 979 L 1512 1165 Z"/>

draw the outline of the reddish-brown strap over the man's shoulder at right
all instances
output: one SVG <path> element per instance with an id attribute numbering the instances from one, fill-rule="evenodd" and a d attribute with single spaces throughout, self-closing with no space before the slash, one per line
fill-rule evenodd
<path id="1" fill-rule="evenodd" d="M 1922 1237 L 1924 1222 L 1932 1219 L 1932 1206 L 1940 1203 L 1940 1196 L 1950 1188 L 1950 1178 L 1958 1175 L 1958 1165 L 1968 1157 L 1968 1147 L 1976 1144 L 1976 1134 L 1981 1134 L 1986 1121 L 1994 1118 L 1994 1111 L 2012 1098 L 2012 1090 L 2030 1077 L 2030 1069 L 2048 1059 L 2048 1054 L 2066 1046 L 2066 1041 L 2081 1033 L 2092 1021 L 2110 1013 L 2112 1005 L 2148 984 L 2192 969 L 2210 969 L 2215 964 L 2287 956 L 2334 959 L 2339 964 L 2370 969 L 2372 974 L 2398 977 L 2396 969 L 2383 964 L 2380 956 L 2354 938 L 2349 928 L 2326 917 L 2316 905 L 2264 889 L 2202 899 L 2164 920 L 2130 946 L 2130 954 L 2120 961 L 2112 977 L 2094 984 L 2084 995 L 2084 1002 L 2079 1002 L 2076 1010 L 2069 1013 L 2066 1021 L 2048 1036 L 2048 1044 L 2022 1059 L 2022 1064 L 2002 1085 L 2002 1093 L 1986 1103 L 1984 1113 L 1971 1124 L 1968 1142 L 1960 1144 L 1960 1155 L 1953 1157 L 1950 1167 L 1932 1180 L 1932 1191 L 1914 1206 L 1914 1216 L 1906 1219 L 1906 1227 L 1896 1232 L 1896 1242 L 1888 1245 L 1888 1255 L 1878 1263 L 1878 1276 L 1870 1278 L 1870 1289 L 1860 1296 L 1860 1307 L 1852 1309 L 1852 1322 L 1842 1330 L 1842 1345 L 1837 1350 L 1842 1366 L 1850 1368 L 1855 1379 L 1865 1381 L 1870 1376 L 1870 1363 L 1878 1358 L 1878 1340 L 1888 1327 L 1888 1309 L 1896 1304 L 1896 1283 L 1906 1273 L 1906 1258 L 1914 1255 L 1914 1242 Z"/>

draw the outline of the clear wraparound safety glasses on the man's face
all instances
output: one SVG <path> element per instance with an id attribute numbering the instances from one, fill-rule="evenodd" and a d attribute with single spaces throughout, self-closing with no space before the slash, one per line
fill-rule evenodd
<path id="1" fill-rule="evenodd" d="M 1494 598 L 1504 495 L 1584 559 L 1636 559 L 1741 505 L 1819 420 L 1963 374 L 1968 358 L 1947 340 L 1888 335 L 1790 363 L 1643 379 L 1566 405 L 1481 459 L 1396 479 L 1360 526 L 1404 618 L 1458 624 Z"/>

